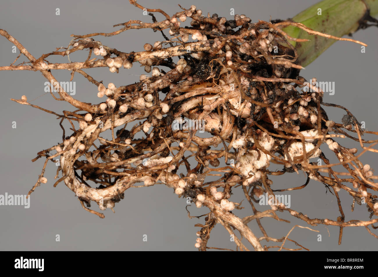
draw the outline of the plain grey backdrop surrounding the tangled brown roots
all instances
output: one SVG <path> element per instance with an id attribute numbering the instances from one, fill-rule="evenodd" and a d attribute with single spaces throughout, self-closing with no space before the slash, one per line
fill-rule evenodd
<path id="1" fill-rule="evenodd" d="M 180 8 L 180 3 L 186 8 L 194 4 L 203 13 L 217 13 L 220 16 L 231 18 L 229 11 L 235 9 L 235 14 L 246 14 L 253 21 L 293 17 L 308 6 L 318 1 L 192 1 L 187 4 L 169 0 L 156 3 L 151 0 L 141 0 L 140 3 L 148 8 L 161 8 L 172 15 Z M 113 24 L 122 23 L 130 19 L 140 19 L 150 22 L 149 16 L 143 16 L 142 11 L 128 3 L 128 1 L 74 1 L 64 2 L 56 0 L 43 1 L 2 1 L 0 9 L 0 28 L 5 29 L 20 41 L 34 57 L 55 48 L 67 46 L 71 34 L 88 34 L 92 32 L 112 32 Z M 55 9 L 60 8 L 60 15 L 55 15 Z M 155 14 L 158 20 L 161 15 Z M 185 23 L 189 24 L 190 21 Z M 184 23 L 182 23 L 185 25 Z M 325 94 L 324 101 L 345 106 L 359 121 L 366 122 L 369 130 L 378 130 L 376 120 L 376 64 L 378 43 L 377 30 L 369 28 L 357 32 L 355 39 L 364 41 L 369 46 L 366 53 L 361 54 L 360 46 L 355 43 L 339 41 L 332 45 L 321 57 L 301 72 L 307 80 L 312 77 L 319 81 L 334 81 L 336 93 L 333 96 Z M 102 43 L 116 47 L 120 51 L 141 51 L 144 43 L 162 40 L 161 35 L 150 29 L 129 30 L 115 37 L 95 37 Z M 19 54 L 12 53 L 11 44 L 6 38 L 0 37 L 0 65 L 12 63 Z M 84 61 L 87 52 L 81 55 L 71 55 L 71 61 Z M 17 63 L 27 61 L 22 56 Z M 67 62 L 66 58 L 52 57 L 50 62 Z M 138 81 L 138 75 L 143 74 L 143 67 L 134 64 L 132 70 L 121 69 L 119 74 L 110 73 L 106 69 L 91 69 L 87 72 L 96 80 L 104 80 L 104 84 L 113 82 L 116 86 Z M 53 71 L 58 81 L 68 81 L 68 70 Z M 62 110 L 74 110 L 63 101 L 55 101 L 51 95 L 43 91 L 45 78 L 40 72 L 0 72 L 1 100 L 0 121 L 1 130 L 1 182 L 0 194 L 27 194 L 35 184 L 43 159 L 32 163 L 36 153 L 61 142 L 62 130 L 59 120 L 55 116 L 22 106 L 9 100 L 26 95 L 31 103 L 61 113 Z M 92 103 L 98 103 L 96 86 L 90 84 L 81 75 L 76 74 L 75 98 Z M 102 101 L 102 100 L 101 100 Z M 325 108 L 330 119 L 341 122 L 345 113 L 338 109 Z M 17 128 L 12 129 L 12 121 L 17 122 Z M 67 125 L 65 125 L 67 127 Z M 67 132 L 68 128 L 66 128 Z M 67 135 L 67 133 L 66 133 Z M 371 136 L 366 135 L 366 139 Z M 351 147 L 353 143 L 344 139 L 344 146 Z M 324 149 L 325 147 L 323 147 Z M 329 152 L 325 151 L 326 155 Z M 333 158 L 333 157 L 332 157 Z M 331 159 L 335 161 L 335 159 Z M 372 168 L 376 167 L 376 158 L 367 153 L 362 159 Z M 274 166 L 272 167 L 275 168 Z M 42 184 L 31 195 L 31 207 L 0 206 L 0 249 L 1 250 L 193 250 L 195 233 L 200 230 L 194 227 L 196 223 L 204 223 L 203 219 L 189 219 L 185 210 L 186 199 L 179 199 L 172 189 L 164 185 L 155 185 L 149 188 L 130 188 L 125 192 L 125 199 L 116 204 L 115 211 L 106 210 L 105 219 L 84 211 L 64 183 L 56 188 L 56 166 L 49 163 L 45 176 L 47 184 Z M 281 176 L 282 177 L 282 176 Z M 274 188 L 296 187 L 304 184 L 304 174 L 285 174 L 282 178 L 272 178 Z M 278 181 L 280 180 L 280 181 Z M 339 216 L 337 202 L 330 193 L 325 193 L 325 187 L 317 182 L 310 184 L 303 190 L 291 192 L 291 208 L 302 211 L 309 217 L 328 217 L 336 219 Z M 244 197 L 241 189 L 234 189 L 231 200 L 240 202 Z M 346 221 L 351 219 L 368 220 L 369 213 L 365 205 L 356 205 L 354 213 L 350 212 L 351 197 L 342 191 L 341 200 Z M 251 210 L 246 201 L 242 211 L 236 211 L 239 216 L 250 214 Z M 92 206 L 99 210 L 95 205 Z M 259 210 L 265 207 L 257 206 Z M 194 205 L 189 207 L 192 215 L 206 213 L 207 208 L 198 210 Z M 299 224 L 307 226 L 305 222 L 296 220 L 287 212 L 278 213 L 282 218 L 291 220 L 291 223 L 277 222 L 271 218 L 262 219 L 268 235 L 283 237 L 292 226 Z M 257 236 L 261 236 L 256 223 L 250 224 Z M 364 227 L 349 227 L 344 229 L 342 244 L 338 245 L 339 228 L 324 225 L 312 227 L 320 233 L 296 228 L 289 238 L 310 248 L 312 251 L 343 251 L 376 249 L 377 240 L 367 233 Z M 56 234 L 60 235 L 60 242 L 55 241 Z M 143 235 L 147 234 L 147 242 L 143 242 Z M 317 235 L 322 234 L 322 241 L 317 241 Z M 232 248 L 229 234 L 221 226 L 212 231 L 208 246 Z M 262 242 L 263 245 L 271 245 Z M 276 244 L 277 245 L 277 244 Z M 288 242 L 285 246 L 296 248 Z M 276 248 L 277 249 L 277 248 Z M 274 249 L 273 249 L 274 251 Z M 106 255 L 106 254 L 105 254 Z"/>

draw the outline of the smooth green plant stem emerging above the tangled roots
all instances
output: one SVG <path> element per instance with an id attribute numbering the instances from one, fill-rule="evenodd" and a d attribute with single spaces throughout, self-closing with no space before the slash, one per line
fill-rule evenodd
<path id="1" fill-rule="evenodd" d="M 324 0 L 305 9 L 292 19 L 314 31 L 342 37 L 358 29 L 359 21 L 366 15 L 368 8 L 371 16 L 378 14 L 378 0 Z M 336 42 L 333 39 L 309 35 L 294 26 L 285 27 L 283 31 L 291 37 L 310 40 L 302 43 L 290 41 L 297 49 L 298 63 L 302 66 L 310 64 Z"/>

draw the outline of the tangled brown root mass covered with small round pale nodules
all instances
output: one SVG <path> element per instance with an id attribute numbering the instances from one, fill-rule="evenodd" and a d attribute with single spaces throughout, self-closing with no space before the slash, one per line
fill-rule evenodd
<path id="1" fill-rule="evenodd" d="M 357 159 L 362 152 L 376 152 L 363 146 L 376 141 L 362 140 L 364 130 L 349 110 L 323 103 L 323 92 L 313 86 L 315 80 L 305 83 L 298 75 L 301 66 L 296 64 L 296 51 L 275 24 L 252 23 L 245 15 L 235 15 L 234 20 L 203 15 L 194 6 L 172 17 L 158 12 L 166 19 L 155 21 L 150 14 L 154 23 L 131 20 L 118 24 L 124 26 L 118 32 L 98 34 L 139 28 L 152 28 L 163 35 L 169 31 L 169 40 L 164 35 L 163 41 L 146 43 L 145 51 L 120 52 L 89 39 L 93 34 L 75 36 L 73 48 L 67 50 L 90 49 L 103 56 L 95 61 L 88 57 L 82 68 L 107 66 L 111 72 L 127 74 L 132 66 L 141 64 L 147 72 L 138 83 L 119 87 L 92 81 L 87 73 L 79 72 L 98 86 L 101 100 L 104 95 L 107 99 L 90 109 L 85 106 L 66 113 L 62 120 L 78 121 L 79 129 L 61 144 L 39 153 L 51 159 L 48 152 L 57 150 L 62 170 L 59 181 L 74 191 L 83 208 L 104 217 L 87 208 L 92 201 L 101 210 L 113 210 L 128 188 L 163 183 L 178 196 L 190 197 L 198 208 L 210 209 L 197 233 L 195 246 L 201 250 L 211 248 L 207 242 L 217 223 L 235 235 L 237 249 L 248 247 L 237 239 L 235 229 L 256 250 L 277 247 L 262 246 L 263 238 L 247 226 L 256 219 L 267 238 L 259 218 L 269 215 L 280 220 L 277 211 L 288 211 L 313 226 L 340 226 L 339 242 L 342 228 L 367 228 L 377 222 L 376 218 L 345 221 L 340 202 L 338 219 L 309 218 L 305 216 L 308 211 L 297 212 L 277 199 L 259 216 L 263 207 L 258 204 L 259 196 L 275 194 L 269 176 L 304 171 L 306 184 L 279 191 L 304 188 L 313 179 L 337 199 L 338 192 L 346 190 L 352 196 L 348 205 L 366 205 L 370 218 L 376 217 L 378 202 L 369 190 L 376 191 L 378 185 L 371 179 L 370 166 Z M 301 92 L 297 87 L 303 88 Z M 76 105 L 81 107 L 78 101 Z M 330 121 L 323 105 L 342 108 L 347 115 L 341 123 Z M 361 142 L 363 151 L 356 154 L 356 148 L 335 141 L 345 137 Z M 345 168 L 343 174 L 332 170 L 321 145 L 336 154 Z M 268 170 L 271 162 L 282 165 L 282 170 Z M 234 188 L 243 190 L 244 206 L 251 205 L 251 216 L 240 219 L 235 215 L 242 199 L 232 199 Z M 285 241 L 274 240 L 281 249 L 291 249 L 283 247 Z"/>

